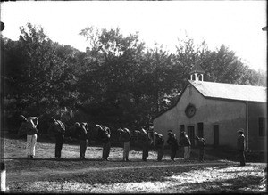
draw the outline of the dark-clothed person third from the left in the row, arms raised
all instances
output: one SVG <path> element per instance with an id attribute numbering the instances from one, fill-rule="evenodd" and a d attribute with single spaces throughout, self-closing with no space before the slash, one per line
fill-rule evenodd
<path id="1" fill-rule="evenodd" d="M 88 123 L 76 122 L 74 126 L 80 140 L 80 158 L 86 159 L 85 153 L 88 146 Z"/>

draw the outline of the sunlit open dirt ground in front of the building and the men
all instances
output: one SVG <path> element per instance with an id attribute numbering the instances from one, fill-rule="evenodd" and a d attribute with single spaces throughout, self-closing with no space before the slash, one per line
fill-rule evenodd
<path id="1" fill-rule="evenodd" d="M 25 153 L 25 140 L 1 138 L 4 142 L 6 192 L 12 193 L 221 193 L 265 192 L 265 163 L 247 163 L 205 156 L 171 162 L 168 151 L 157 162 L 155 151 L 147 162 L 140 150 L 130 150 L 123 162 L 122 148 L 113 147 L 110 161 L 102 161 L 102 148 L 88 146 L 87 160 L 80 160 L 78 145 L 63 145 L 63 160 L 54 159 L 54 144 L 38 142 L 36 159 Z"/>

